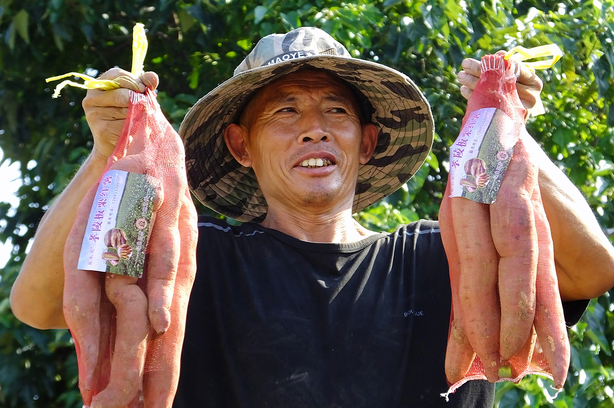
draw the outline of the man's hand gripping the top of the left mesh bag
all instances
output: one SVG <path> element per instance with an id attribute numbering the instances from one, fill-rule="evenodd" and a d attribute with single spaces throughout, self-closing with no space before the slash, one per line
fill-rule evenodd
<path id="1" fill-rule="evenodd" d="M 129 77 L 130 82 L 122 77 Z M 158 75 L 155 72 L 145 72 L 136 76 L 120 68 L 112 68 L 98 79 L 112 79 L 122 85 L 122 88 L 109 91 L 88 90 L 82 105 L 85 118 L 90 125 L 94 137 L 93 154 L 104 161 L 111 156 L 128 112 L 130 90 L 144 92 L 146 87 L 155 90 L 158 86 Z M 135 87 L 134 85 L 138 85 Z"/>

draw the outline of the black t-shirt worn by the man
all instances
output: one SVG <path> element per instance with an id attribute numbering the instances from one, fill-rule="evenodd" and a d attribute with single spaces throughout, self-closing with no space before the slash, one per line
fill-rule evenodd
<path id="1" fill-rule="evenodd" d="M 492 407 L 486 381 L 440 396 L 451 292 L 436 221 L 351 244 L 198 225 L 174 408 Z"/>

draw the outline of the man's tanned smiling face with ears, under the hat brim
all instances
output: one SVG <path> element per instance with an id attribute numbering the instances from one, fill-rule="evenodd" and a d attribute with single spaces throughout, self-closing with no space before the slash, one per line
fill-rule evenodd
<path id="1" fill-rule="evenodd" d="M 359 115 L 348 85 L 324 71 L 293 72 L 258 91 L 231 126 L 244 134 L 238 160 L 254 169 L 270 209 L 351 207 L 377 137 Z"/>

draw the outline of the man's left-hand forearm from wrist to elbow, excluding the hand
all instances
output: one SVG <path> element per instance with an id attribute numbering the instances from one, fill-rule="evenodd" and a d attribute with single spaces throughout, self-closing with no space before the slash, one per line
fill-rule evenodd
<path id="1" fill-rule="evenodd" d="M 92 152 L 39 223 L 10 293 L 13 313 L 30 326 L 66 328 L 62 313 L 64 242 L 82 198 L 98 180 L 104 166 L 106 158 Z"/>

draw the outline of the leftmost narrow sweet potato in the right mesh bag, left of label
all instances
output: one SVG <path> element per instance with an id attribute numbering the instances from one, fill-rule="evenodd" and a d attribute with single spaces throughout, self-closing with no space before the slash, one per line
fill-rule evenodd
<path id="1" fill-rule="evenodd" d="M 439 228 L 443 241 L 450 275 L 452 289 L 452 314 L 449 329 L 448 347 L 446 348 L 446 377 L 451 383 L 462 380 L 471 368 L 475 359 L 475 352 L 465 334 L 462 321 L 461 305 L 459 301 L 459 278 L 461 277 L 461 260 L 454 237 L 454 223 L 452 221 L 452 208 L 450 203 L 450 186 L 446 187 L 439 209 Z"/>

